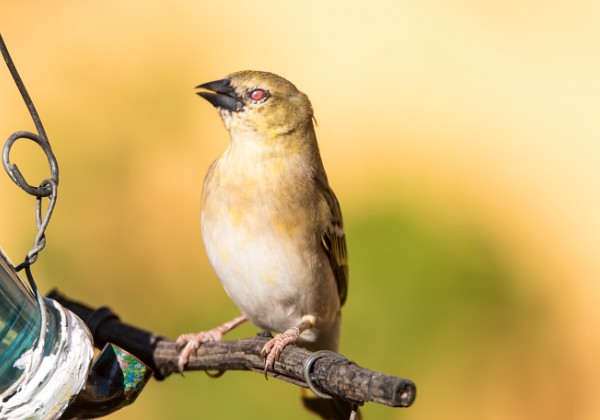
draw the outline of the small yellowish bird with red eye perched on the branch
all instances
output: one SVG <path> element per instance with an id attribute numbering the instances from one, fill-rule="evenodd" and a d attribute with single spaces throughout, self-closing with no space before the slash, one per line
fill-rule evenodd
<path id="1" fill-rule="evenodd" d="M 261 351 L 265 373 L 293 343 L 337 351 L 348 293 L 346 240 L 308 97 L 261 71 L 233 73 L 197 89 L 217 108 L 231 140 L 204 180 L 202 239 L 242 315 L 181 335 L 180 371 L 203 342 L 221 340 L 248 320 L 278 333 Z"/>

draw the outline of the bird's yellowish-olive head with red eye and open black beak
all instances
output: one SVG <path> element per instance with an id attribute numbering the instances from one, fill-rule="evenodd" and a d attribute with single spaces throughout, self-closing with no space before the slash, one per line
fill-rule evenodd
<path id="1" fill-rule="evenodd" d="M 262 71 L 240 71 L 196 87 L 213 104 L 225 126 L 278 136 L 312 126 L 308 97 L 281 76 Z"/>

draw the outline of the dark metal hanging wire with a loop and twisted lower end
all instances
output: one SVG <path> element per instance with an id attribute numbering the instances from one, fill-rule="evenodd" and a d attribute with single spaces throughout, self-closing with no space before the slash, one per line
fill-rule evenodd
<path id="1" fill-rule="evenodd" d="M 46 246 L 45 231 L 48 227 L 52 212 L 54 211 L 58 193 L 58 162 L 56 161 L 54 153 L 52 153 L 48 136 L 46 135 L 46 131 L 44 130 L 44 126 L 42 125 L 42 121 L 37 113 L 37 110 L 35 109 L 35 105 L 33 104 L 33 101 L 31 100 L 29 93 L 27 93 L 27 89 L 25 88 L 25 85 L 23 84 L 23 81 L 17 72 L 8 49 L 6 48 L 6 44 L 2 39 L 2 35 L 0 35 L 0 51 L 2 52 L 4 62 L 6 63 L 6 66 L 8 67 L 15 84 L 21 93 L 21 97 L 23 98 L 23 101 L 25 102 L 25 105 L 29 110 L 29 114 L 33 119 L 33 123 L 38 131 L 38 134 L 30 133 L 28 131 L 17 131 L 8 137 L 6 143 L 4 144 L 4 148 L 2 149 L 2 165 L 4 166 L 4 169 L 6 170 L 6 173 L 10 179 L 12 179 L 13 182 L 17 184 L 23 191 L 36 197 L 36 224 L 38 232 L 35 236 L 33 247 L 25 257 L 25 261 L 16 267 L 17 271 L 26 268 L 27 278 L 29 279 L 32 289 L 35 291 L 36 286 L 29 267 L 37 260 L 38 254 Z M 28 139 L 35 142 L 38 146 L 40 146 L 46 155 L 46 158 L 48 159 L 48 165 L 50 166 L 50 178 L 43 180 L 38 187 L 30 185 L 25 180 L 25 177 L 17 165 L 10 162 L 10 150 L 14 143 L 19 139 Z M 50 200 L 45 214 L 43 214 L 42 211 L 42 199 L 44 197 L 48 197 Z"/>

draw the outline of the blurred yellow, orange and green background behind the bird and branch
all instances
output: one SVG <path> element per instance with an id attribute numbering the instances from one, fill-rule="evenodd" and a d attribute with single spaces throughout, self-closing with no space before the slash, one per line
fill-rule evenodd
<path id="1" fill-rule="evenodd" d="M 350 257 L 341 352 L 412 379 L 367 419 L 600 417 L 600 3 L 2 0 L 60 165 L 40 289 L 168 337 L 238 314 L 200 239 L 227 146 L 197 84 L 256 69 L 308 94 Z M 0 137 L 33 124 L 0 66 Z M 11 154 L 48 176 L 33 143 Z M 0 174 L 20 262 L 34 199 Z M 229 338 L 253 335 L 247 325 Z M 260 375 L 153 381 L 112 419 L 309 418 Z"/>

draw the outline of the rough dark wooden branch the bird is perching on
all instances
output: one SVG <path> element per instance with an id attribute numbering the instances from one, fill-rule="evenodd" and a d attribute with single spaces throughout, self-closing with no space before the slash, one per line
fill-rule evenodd
<path id="1" fill-rule="evenodd" d="M 173 340 L 124 324 L 107 307 L 94 310 L 56 290 L 51 291 L 48 297 L 70 309 L 88 325 L 96 347 L 102 348 L 107 342 L 116 344 L 154 370 L 157 379 L 178 373 L 179 352 Z M 249 370 L 263 374 L 264 362 L 259 354 L 267 340 L 266 337 L 253 337 L 204 343 L 190 358 L 185 370 Z M 311 354 L 306 349 L 289 346 L 268 375 L 307 387 L 303 366 Z M 358 403 L 372 401 L 392 407 L 409 407 L 416 395 L 413 382 L 365 369 L 337 353 L 319 358 L 313 365 L 310 378 L 324 393 Z"/>

